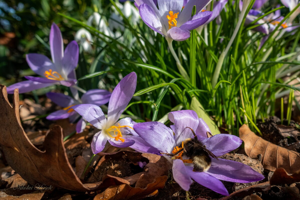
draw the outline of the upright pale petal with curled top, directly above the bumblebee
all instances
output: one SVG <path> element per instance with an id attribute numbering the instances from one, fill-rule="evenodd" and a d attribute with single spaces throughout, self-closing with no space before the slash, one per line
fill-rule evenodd
<path id="1" fill-rule="evenodd" d="M 180 145 L 185 139 L 193 137 L 193 132 L 187 127 L 190 127 L 195 131 L 199 124 L 198 115 L 193 110 L 179 110 L 170 112 L 169 119 L 175 125 L 174 133 L 177 146 Z"/>

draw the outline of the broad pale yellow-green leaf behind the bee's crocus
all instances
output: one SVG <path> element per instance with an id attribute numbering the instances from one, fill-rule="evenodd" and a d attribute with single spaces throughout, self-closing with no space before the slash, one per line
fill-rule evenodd
<path id="1" fill-rule="evenodd" d="M 205 121 L 205 123 L 208 125 L 212 135 L 220 134 L 220 130 L 218 129 L 217 125 L 214 123 L 214 121 L 211 120 L 211 118 L 205 112 L 203 106 L 196 99 L 196 97 L 192 98 L 192 102 L 190 103 L 190 109 L 195 111 L 197 113 L 198 117 L 202 118 Z"/>

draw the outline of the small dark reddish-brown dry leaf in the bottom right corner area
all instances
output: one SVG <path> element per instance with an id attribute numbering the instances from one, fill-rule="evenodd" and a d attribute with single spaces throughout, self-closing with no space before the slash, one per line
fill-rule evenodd
<path id="1" fill-rule="evenodd" d="M 298 168 L 300 168 L 300 166 L 298 166 Z M 290 175 L 283 168 L 278 168 L 270 178 L 270 185 L 292 184 L 297 182 L 300 182 L 300 169 Z"/>

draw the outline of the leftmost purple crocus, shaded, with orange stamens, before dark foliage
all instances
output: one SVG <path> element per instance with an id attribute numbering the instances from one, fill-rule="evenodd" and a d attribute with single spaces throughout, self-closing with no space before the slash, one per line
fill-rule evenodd
<path id="1" fill-rule="evenodd" d="M 55 23 L 52 23 L 49 41 L 52 61 L 45 55 L 37 53 L 26 55 L 29 67 L 43 77 L 25 76 L 28 81 L 8 86 L 8 94 L 13 94 L 15 88 L 19 88 L 19 93 L 25 93 L 50 85 L 65 85 L 70 87 L 76 84 L 77 80 L 74 69 L 78 64 L 78 44 L 73 40 L 64 50 L 61 32 Z"/>

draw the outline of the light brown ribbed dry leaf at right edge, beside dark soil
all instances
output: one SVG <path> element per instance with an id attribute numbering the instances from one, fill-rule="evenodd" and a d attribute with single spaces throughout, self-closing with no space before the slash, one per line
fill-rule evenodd
<path id="1" fill-rule="evenodd" d="M 299 169 L 300 155 L 297 152 L 262 139 L 255 135 L 246 124 L 240 127 L 239 136 L 245 143 L 247 156 L 256 158 L 258 154 L 262 155 L 262 165 L 265 169 L 274 172 L 282 167 L 290 174 Z"/>

